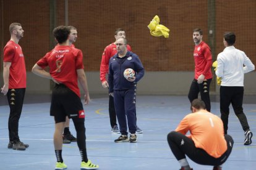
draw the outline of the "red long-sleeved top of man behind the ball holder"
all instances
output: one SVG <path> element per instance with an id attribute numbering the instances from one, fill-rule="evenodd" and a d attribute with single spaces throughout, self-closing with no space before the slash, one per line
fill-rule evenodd
<path id="1" fill-rule="evenodd" d="M 127 50 L 132 51 L 132 48 L 127 44 Z M 106 75 L 108 74 L 109 59 L 117 53 L 116 44 L 114 42 L 105 47 L 101 58 L 100 64 L 100 80 L 106 81 Z"/>

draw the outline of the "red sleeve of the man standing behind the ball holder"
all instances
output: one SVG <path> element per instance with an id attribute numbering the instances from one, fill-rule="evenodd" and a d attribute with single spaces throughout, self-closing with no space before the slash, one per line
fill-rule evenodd
<path id="1" fill-rule="evenodd" d="M 100 80 L 101 82 L 106 81 L 106 74 L 108 73 L 108 62 L 110 59 L 111 51 L 109 51 L 109 46 L 104 49 L 104 52 L 101 57 L 100 63 Z"/>

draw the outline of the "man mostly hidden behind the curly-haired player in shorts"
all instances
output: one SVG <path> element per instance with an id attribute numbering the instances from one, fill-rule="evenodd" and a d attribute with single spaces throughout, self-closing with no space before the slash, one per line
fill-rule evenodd
<path id="1" fill-rule="evenodd" d="M 73 44 L 75 41 L 77 41 L 77 28 L 74 26 L 67 26 L 70 30 L 69 34 L 69 46 L 74 47 L 75 45 Z M 63 132 L 63 144 L 70 144 L 71 142 L 77 142 L 77 139 L 71 134 L 69 131 L 69 117 L 66 117 L 66 123 L 65 123 L 65 128 Z"/>

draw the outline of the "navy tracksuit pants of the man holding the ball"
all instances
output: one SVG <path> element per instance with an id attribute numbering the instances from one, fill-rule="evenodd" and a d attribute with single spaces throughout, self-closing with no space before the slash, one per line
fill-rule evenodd
<path id="1" fill-rule="evenodd" d="M 130 134 L 136 132 L 136 89 L 114 91 L 114 107 L 122 135 L 127 135 L 127 124 Z"/>

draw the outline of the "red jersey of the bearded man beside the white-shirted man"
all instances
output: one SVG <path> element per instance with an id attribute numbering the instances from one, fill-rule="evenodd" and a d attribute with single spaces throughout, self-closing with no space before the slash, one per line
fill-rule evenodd
<path id="1" fill-rule="evenodd" d="M 194 60 L 195 60 L 195 79 L 198 78 L 200 75 L 204 75 L 205 79 L 212 78 L 211 74 L 211 49 L 205 43 L 201 42 L 194 49 Z"/>

